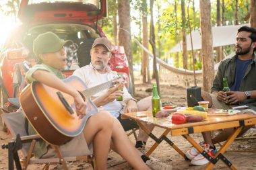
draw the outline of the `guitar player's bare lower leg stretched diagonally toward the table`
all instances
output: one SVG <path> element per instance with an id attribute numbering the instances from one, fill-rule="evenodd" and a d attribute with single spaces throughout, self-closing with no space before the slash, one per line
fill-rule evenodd
<path id="1" fill-rule="evenodd" d="M 120 122 L 113 118 L 112 148 L 134 169 L 150 169 L 141 159 L 141 155 L 133 146 Z"/>

